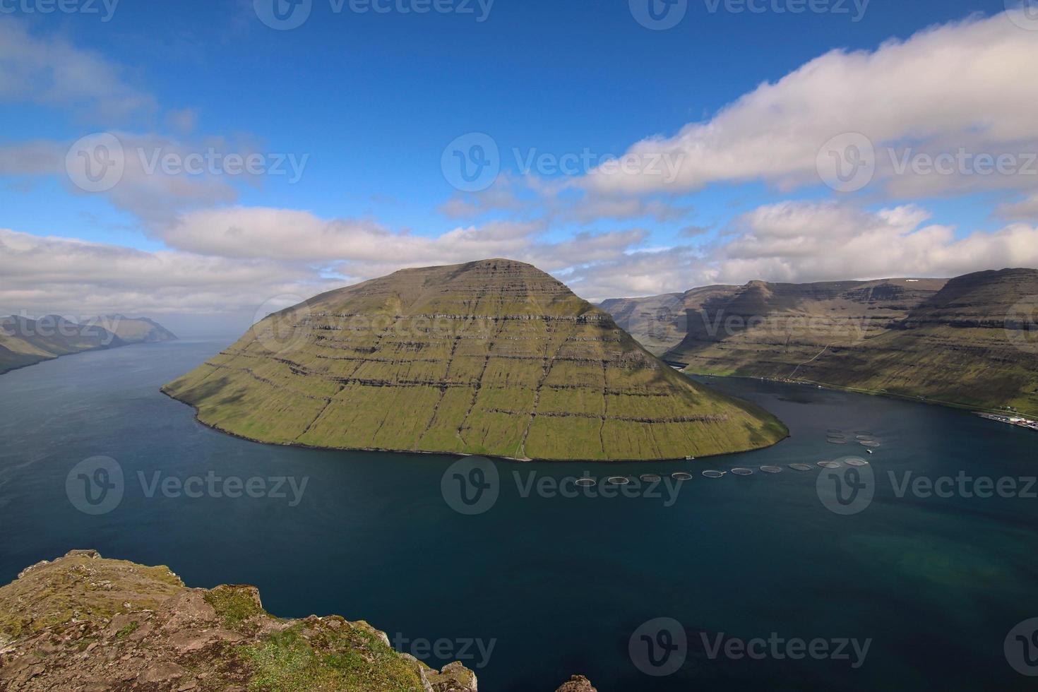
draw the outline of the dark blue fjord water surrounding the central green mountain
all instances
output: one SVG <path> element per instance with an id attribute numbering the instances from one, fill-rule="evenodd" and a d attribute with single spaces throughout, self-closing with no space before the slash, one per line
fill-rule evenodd
<path id="1" fill-rule="evenodd" d="M 698 462 L 496 463 L 496 503 L 464 516 L 441 492 L 456 458 L 255 444 L 198 424 L 159 392 L 223 345 L 141 344 L 0 377 L 0 582 L 95 548 L 168 564 L 191 586 L 255 584 L 277 615 L 367 619 L 432 665 L 462 658 L 489 692 L 553 690 L 575 672 L 603 692 L 1033 685 L 1010 667 L 1004 641 L 1038 617 L 1038 499 L 898 497 L 890 477 L 1033 477 L 1033 432 L 920 404 L 715 379 L 778 415 L 792 437 Z M 819 499 L 817 462 L 864 451 L 827 443 L 829 428 L 881 442 L 867 456 L 875 498 L 861 514 Z M 73 505 L 65 481 L 97 455 L 115 460 L 126 482 L 121 502 L 93 516 Z M 787 468 L 797 462 L 813 471 Z M 784 472 L 700 475 L 772 464 Z M 665 489 L 612 498 L 536 489 L 543 478 L 683 470 L 693 478 L 673 504 Z M 210 474 L 307 481 L 295 506 L 286 483 L 286 497 L 148 497 L 156 479 Z M 681 622 L 688 652 L 680 670 L 654 677 L 632 663 L 628 642 L 659 617 Z M 772 633 L 872 641 L 857 668 L 850 647 L 849 661 L 750 660 L 711 658 L 704 644 Z M 448 640 L 443 657 L 422 639 Z M 484 652 L 493 642 L 485 666 L 470 640 Z"/>

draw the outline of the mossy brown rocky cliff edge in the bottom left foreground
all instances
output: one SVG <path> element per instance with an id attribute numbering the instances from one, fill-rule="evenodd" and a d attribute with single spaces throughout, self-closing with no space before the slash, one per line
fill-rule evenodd
<path id="1" fill-rule="evenodd" d="M 399 654 L 364 621 L 281 619 L 255 587 L 189 588 L 77 550 L 0 588 L 0 691 L 16 690 L 476 692 L 476 679 Z"/>

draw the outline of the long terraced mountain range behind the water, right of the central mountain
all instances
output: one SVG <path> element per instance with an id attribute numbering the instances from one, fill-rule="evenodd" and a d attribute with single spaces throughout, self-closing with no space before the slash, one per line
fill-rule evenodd
<path id="1" fill-rule="evenodd" d="M 1038 270 L 708 286 L 601 307 L 687 371 L 1038 414 Z"/>

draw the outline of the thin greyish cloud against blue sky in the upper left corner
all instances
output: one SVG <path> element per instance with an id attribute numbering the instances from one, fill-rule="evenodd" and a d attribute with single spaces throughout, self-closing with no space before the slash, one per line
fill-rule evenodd
<path id="1" fill-rule="evenodd" d="M 0 102 L 76 108 L 103 121 L 154 112 L 155 98 L 131 86 L 124 72 L 59 36 L 34 36 L 10 17 L 0 21 Z"/>

